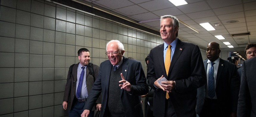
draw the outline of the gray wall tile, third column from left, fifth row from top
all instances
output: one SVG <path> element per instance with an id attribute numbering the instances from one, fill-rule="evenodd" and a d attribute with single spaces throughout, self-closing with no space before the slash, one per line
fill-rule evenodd
<path id="1" fill-rule="evenodd" d="M 43 66 L 43 56 L 30 54 L 29 56 L 29 67 L 41 68 Z"/>

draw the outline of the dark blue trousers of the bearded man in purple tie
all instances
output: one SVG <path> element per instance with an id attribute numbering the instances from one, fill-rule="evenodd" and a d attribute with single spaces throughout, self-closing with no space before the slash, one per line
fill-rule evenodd
<path id="1" fill-rule="evenodd" d="M 81 114 L 84 111 L 84 106 L 85 106 L 85 102 L 78 102 L 76 99 L 74 99 L 71 110 L 68 113 L 69 117 L 81 117 Z M 90 114 L 88 115 L 88 117 L 93 117 L 93 116 L 94 116 L 94 111 L 90 111 Z"/>

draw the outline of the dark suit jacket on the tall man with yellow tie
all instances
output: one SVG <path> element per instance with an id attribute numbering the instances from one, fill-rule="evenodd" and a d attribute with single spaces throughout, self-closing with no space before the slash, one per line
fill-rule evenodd
<path id="1" fill-rule="evenodd" d="M 153 88 L 154 116 L 165 116 L 166 92 L 154 87 L 154 82 L 162 75 L 167 80 L 176 82 L 176 88 L 169 94 L 178 117 L 196 116 L 196 88 L 205 84 L 206 78 L 202 55 L 197 45 L 178 39 L 172 56 L 171 65 L 166 75 L 163 58 L 164 44 L 153 48 L 149 53 L 147 78 Z"/>

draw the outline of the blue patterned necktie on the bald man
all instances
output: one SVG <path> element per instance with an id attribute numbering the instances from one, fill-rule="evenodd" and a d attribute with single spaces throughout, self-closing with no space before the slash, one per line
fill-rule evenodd
<path id="1" fill-rule="evenodd" d="M 215 96 L 215 83 L 214 83 L 214 62 L 210 62 L 211 67 L 208 72 L 208 96 L 213 98 Z"/>

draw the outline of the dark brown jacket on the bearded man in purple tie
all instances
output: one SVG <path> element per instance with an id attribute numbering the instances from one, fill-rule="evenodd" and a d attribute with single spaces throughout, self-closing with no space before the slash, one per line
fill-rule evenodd
<path id="1" fill-rule="evenodd" d="M 80 63 L 78 63 L 78 64 L 80 64 Z M 74 98 L 76 98 L 75 93 L 76 93 L 76 84 L 77 84 L 78 64 L 75 64 L 73 66 L 71 78 L 70 78 L 70 74 L 68 71 L 68 78 L 67 78 L 67 83 L 66 83 L 64 97 L 63 97 L 63 101 L 68 101 L 69 96 L 70 96 L 70 98 L 71 98 L 71 100 L 70 100 L 71 106 L 70 107 L 72 107 Z M 98 78 L 99 66 L 94 64 L 93 71 L 94 71 L 95 80 L 96 80 Z M 91 73 L 89 73 L 89 69 L 88 69 L 88 67 L 86 67 L 86 87 L 87 87 L 88 95 L 90 95 L 90 90 L 92 89 L 93 83 L 94 83 L 93 75 Z M 101 103 L 101 98 L 99 98 L 96 103 Z M 96 106 L 93 108 L 93 110 L 95 110 L 95 109 L 96 109 Z"/>

